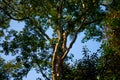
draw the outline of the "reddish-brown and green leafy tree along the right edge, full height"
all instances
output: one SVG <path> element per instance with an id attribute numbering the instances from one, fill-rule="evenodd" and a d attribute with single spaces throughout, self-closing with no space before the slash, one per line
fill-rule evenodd
<path id="1" fill-rule="evenodd" d="M 120 79 L 120 2 L 113 0 L 106 5 L 105 40 L 102 44 L 103 54 L 101 59 L 100 79 Z M 104 74 L 103 74 L 104 73 Z"/>

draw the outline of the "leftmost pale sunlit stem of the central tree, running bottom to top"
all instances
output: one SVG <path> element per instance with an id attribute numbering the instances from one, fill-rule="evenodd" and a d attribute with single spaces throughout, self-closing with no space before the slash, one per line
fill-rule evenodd
<path id="1" fill-rule="evenodd" d="M 62 0 L 61 4 L 57 6 L 57 35 L 58 35 L 58 41 L 55 45 L 55 49 L 53 52 L 52 57 L 52 79 L 54 80 L 57 78 L 57 65 L 60 65 L 60 63 L 56 63 L 58 61 L 57 59 L 57 53 L 59 50 L 59 46 L 61 45 L 62 40 L 62 33 L 63 33 L 63 27 L 61 26 L 61 17 L 62 17 L 62 6 L 63 6 L 64 0 Z M 56 61 L 57 60 L 57 61 Z M 59 73 L 58 73 L 59 74 Z M 55 79 L 56 80 L 56 79 Z"/>

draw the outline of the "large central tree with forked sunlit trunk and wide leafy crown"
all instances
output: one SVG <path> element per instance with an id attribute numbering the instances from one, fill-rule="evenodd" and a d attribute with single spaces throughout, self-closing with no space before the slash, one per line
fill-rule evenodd
<path id="1" fill-rule="evenodd" d="M 105 13 L 100 4 L 101 0 L 0 1 L 1 17 L 25 22 L 23 31 L 8 32 L 2 43 L 4 53 L 18 55 L 13 63 L 20 63 L 21 67 L 16 73 L 27 75 L 32 67 L 37 67 L 48 79 L 43 70 L 48 72 L 49 67 L 52 80 L 59 80 L 63 62 L 80 32 L 85 31 L 84 41 L 102 38 L 103 26 L 98 25 Z M 48 29 L 53 30 L 52 37 L 46 33 Z"/>

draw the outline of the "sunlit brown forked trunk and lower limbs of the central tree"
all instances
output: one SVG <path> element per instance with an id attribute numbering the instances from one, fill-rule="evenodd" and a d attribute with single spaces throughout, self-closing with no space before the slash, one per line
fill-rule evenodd
<path id="1" fill-rule="evenodd" d="M 58 26 L 57 26 L 57 35 L 58 35 L 58 41 L 55 45 L 54 52 L 53 52 L 53 57 L 52 57 L 52 80 L 59 80 L 63 61 L 66 58 L 67 54 L 69 53 L 70 49 L 72 48 L 73 44 L 75 43 L 77 39 L 77 34 L 80 31 L 82 25 L 84 24 L 84 20 L 81 22 L 80 26 L 78 29 L 75 31 L 74 38 L 69 44 L 68 48 L 66 47 L 67 44 L 67 37 L 68 34 L 71 30 L 71 28 L 74 26 L 75 23 L 68 26 L 67 30 L 65 32 L 62 31 L 62 27 L 60 25 L 60 12 L 58 12 Z"/>

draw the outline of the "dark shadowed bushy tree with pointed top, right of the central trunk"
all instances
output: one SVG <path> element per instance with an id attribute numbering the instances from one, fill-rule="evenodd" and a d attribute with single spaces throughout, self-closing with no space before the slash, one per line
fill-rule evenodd
<path id="1" fill-rule="evenodd" d="M 61 80 L 97 80 L 99 73 L 99 57 L 97 53 L 83 47 L 82 59 L 76 60 L 72 65 L 64 64 Z"/>

